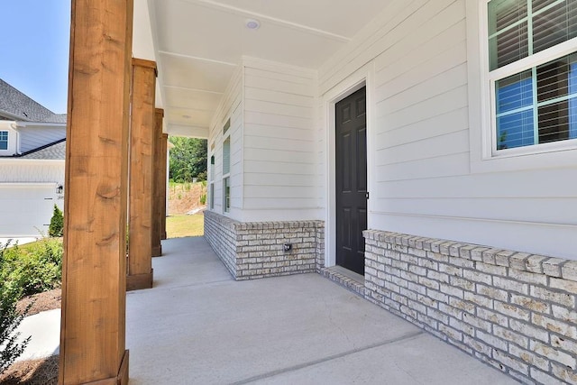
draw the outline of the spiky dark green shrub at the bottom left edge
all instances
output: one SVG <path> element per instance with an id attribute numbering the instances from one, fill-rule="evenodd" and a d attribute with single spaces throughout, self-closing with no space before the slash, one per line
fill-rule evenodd
<path id="1" fill-rule="evenodd" d="M 22 289 L 14 285 L 14 281 L 8 280 L 8 276 L 12 273 L 12 264 L 5 258 L 9 244 L 10 242 L 5 245 L 0 244 L 0 346 L 2 346 L 0 374 L 4 373 L 23 353 L 31 338 L 28 337 L 22 343 L 17 343 L 20 333 L 14 333 L 30 307 L 22 315 L 16 312 L 16 303 L 22 296 Z"/>

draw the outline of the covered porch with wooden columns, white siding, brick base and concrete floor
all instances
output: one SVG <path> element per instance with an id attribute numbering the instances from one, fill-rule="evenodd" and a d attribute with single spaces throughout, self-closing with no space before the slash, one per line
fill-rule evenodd
<path id="1" fill-rule="evenodd" d="M 499 381 L 432 335 L 577 383 L 577 142 L 490 142 L 488 2 L 241 3 L 73 1 L 60 383 Z M 160 248 L 166 133 L 208 139 L 226 268 Z"/>

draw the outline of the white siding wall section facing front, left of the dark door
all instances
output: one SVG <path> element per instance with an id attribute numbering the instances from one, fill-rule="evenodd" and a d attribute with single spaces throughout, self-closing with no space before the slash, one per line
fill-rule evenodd
<path id="1" fill-rule="evenodd" d="M 322 217 L 316 71 L 244 60 L 243 221 Z"/>

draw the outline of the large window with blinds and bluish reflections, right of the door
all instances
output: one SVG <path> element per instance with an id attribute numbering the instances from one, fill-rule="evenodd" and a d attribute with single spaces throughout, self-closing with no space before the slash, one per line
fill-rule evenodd
<path id="1" fill-rule="evenodd" d="M 491 0 L 493 150 L 577 138 L 577 0 Z"/>

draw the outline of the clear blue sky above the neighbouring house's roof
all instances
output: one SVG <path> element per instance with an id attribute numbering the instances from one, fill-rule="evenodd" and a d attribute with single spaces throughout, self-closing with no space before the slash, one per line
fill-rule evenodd
<path id="1" fill-rule="evenodd" d="M 66 113 L 70 0 L 2 2 L 0 78 L 57 114 Z"/>

